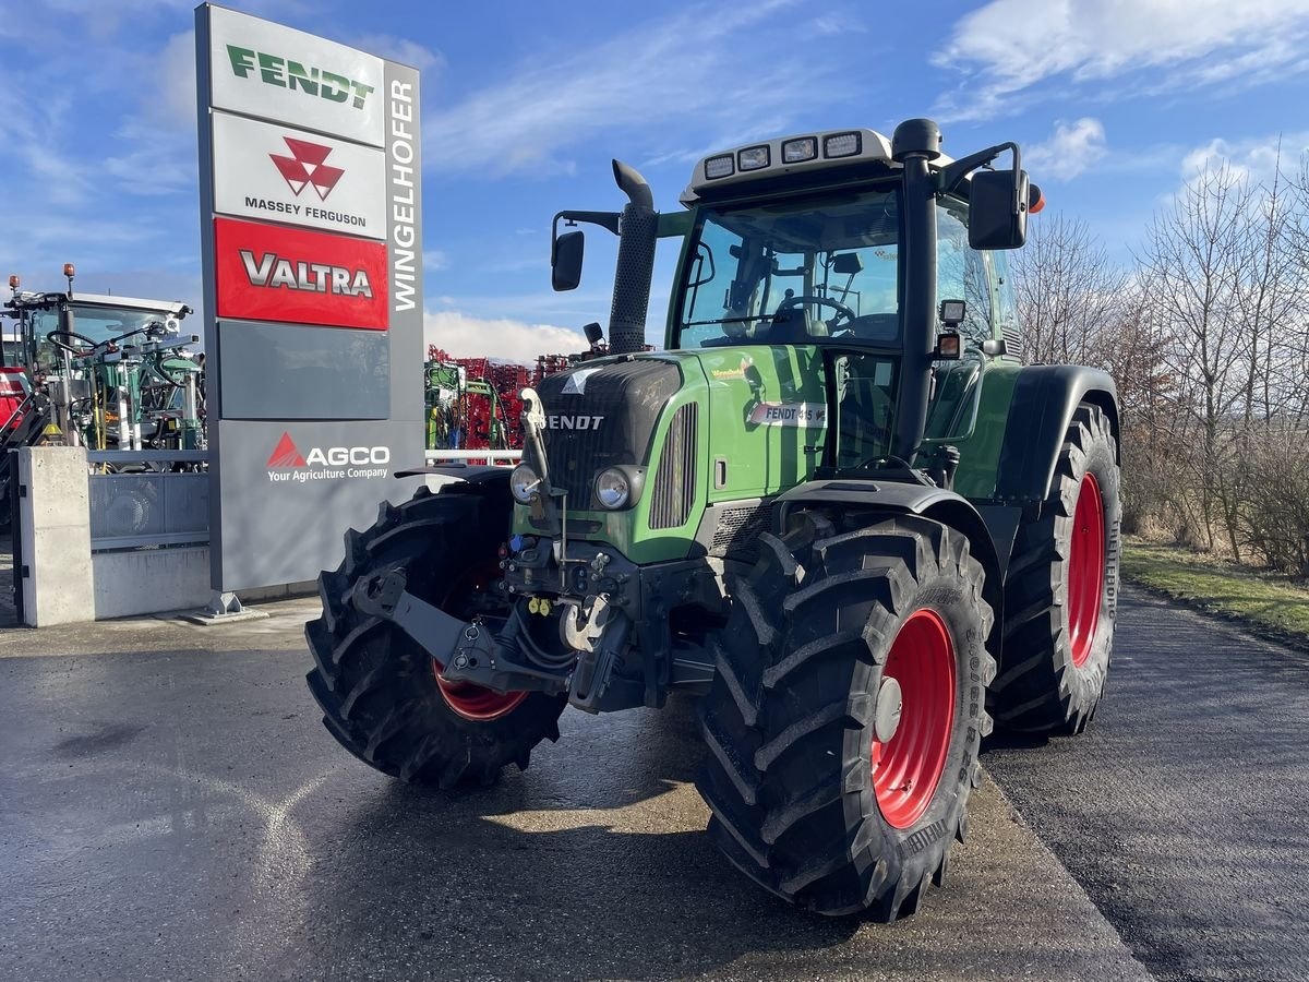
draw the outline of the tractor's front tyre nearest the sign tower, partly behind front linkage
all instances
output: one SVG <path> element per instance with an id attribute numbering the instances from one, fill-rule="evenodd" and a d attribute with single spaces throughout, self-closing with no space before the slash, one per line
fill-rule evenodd
<path id="1" fill-rule="evenodd" d="M 369 766 L 420 784 L 488 784 L 508 763 L 526 767 L 543 738 L 559 738 L 564 697 L 446 682 L 412 638 L 348 600 L 360 579 L 399 564 L 410 592 L 493 625 L 508 614 L 493 589 L 508 528 L 507 490 L 419 488 L 398 508 L 382 504 L 368 532 L 347 532 L 346 559 L 318 577 L 323 614 L 305 626 L 309 690 L 327 731 Z"/>

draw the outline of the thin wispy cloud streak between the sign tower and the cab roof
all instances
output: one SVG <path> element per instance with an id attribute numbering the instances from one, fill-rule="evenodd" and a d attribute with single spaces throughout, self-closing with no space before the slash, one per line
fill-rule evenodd
<path id="1" fill-rule="evenodd" d="M 716 7 L 712 16 L 696 7 L 554 62 L 524 62 L 501 81 L 425 117 L 432 141 L 425 166 L 492 177 L 569 173 L 575 165 L 567 151 L 600 132 L 610 143 L 635 134 L 654 147 L 674 132 L 699 144 L 740 128 L 742 119 L 771 117 L 784 128 L 792 117 L 812 118 L 843 94 L 830 84 L 839 68 L 834 60 L 792 58 L 785 85 L 762 84 L 759 76 L 759 65 L 793 47 L 793 30 L 763 24 L 788 3 Z M 692 38 L 694 56 L 687 52 Z M 450 147 L 459 153 L 449 153 Z"/>

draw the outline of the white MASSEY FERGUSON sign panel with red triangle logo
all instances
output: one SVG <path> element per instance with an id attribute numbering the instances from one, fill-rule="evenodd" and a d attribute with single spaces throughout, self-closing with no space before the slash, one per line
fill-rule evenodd
<path id="1" fill-rule="evenodd" d="M 215 113 L 213 208 L 224 215 L 385 240 L 386 155 Z"/>

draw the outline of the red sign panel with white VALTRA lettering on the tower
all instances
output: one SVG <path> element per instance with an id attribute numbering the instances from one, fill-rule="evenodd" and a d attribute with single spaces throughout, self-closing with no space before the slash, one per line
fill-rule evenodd
<path id="1" fill-rule="evenodd" d="M 213 220 L 221 318 L 389 326 L 386 245 L 234 219 Z"/>

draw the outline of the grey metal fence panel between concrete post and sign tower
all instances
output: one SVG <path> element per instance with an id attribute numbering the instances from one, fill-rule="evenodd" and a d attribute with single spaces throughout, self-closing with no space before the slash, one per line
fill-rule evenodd
<path id="1" fill-rule="evenodd" d="M 115 471 L 90 475 L 90 549 L 192 546 L 209 541 L 209 474 L 204 450 L 93 450 L 90 464 Z M 124 471 L 123 467 L 144 467 Z"/>

